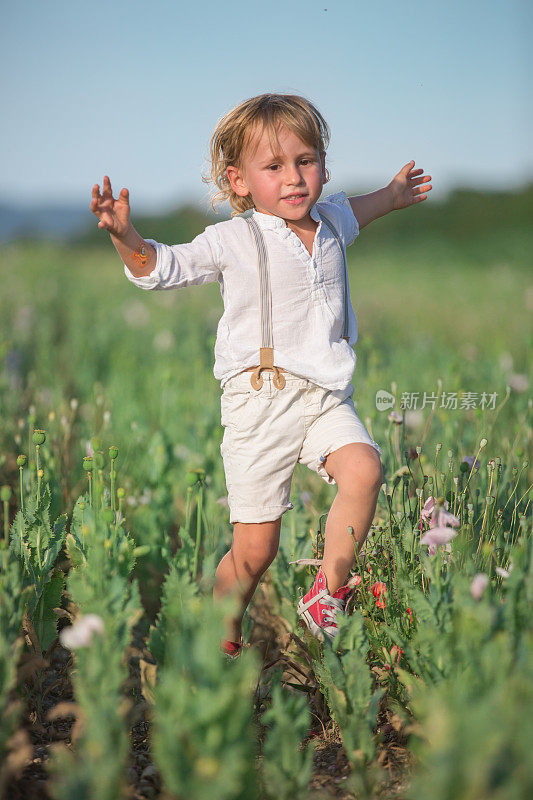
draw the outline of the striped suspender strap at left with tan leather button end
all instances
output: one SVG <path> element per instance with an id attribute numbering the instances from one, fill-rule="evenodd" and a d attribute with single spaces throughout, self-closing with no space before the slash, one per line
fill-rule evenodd
<path id="1" fill-rule="evenodd" d="M 252 229 L 257 250 L 257 267 L 259 270 L 259 306 L 261 313 L 261 347 L 259 348 L 259 366 L 250 376 L 250 383 L 256 391 L 263 385 L 261 371 L 265 368 L 274 370 L 274 386 L 283 389 L 285 377 L 274 366 L 274 341 L 272 335 L 272 291 L 270 289 L 270 267 L 268 263 L 268 250 L 262 231 L 253 217 L 245 217 Z"/>

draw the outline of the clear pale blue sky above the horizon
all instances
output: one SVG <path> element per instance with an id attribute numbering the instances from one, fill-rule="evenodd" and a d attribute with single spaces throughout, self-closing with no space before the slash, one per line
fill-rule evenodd
<path id="1" fill-rule="evenodd" d="M 207 209 L 216 123 L 267 91 L 328 121 L 325 194 L 411 158 L 435 199 L 533 178 L 528 0 L 17 0 L 1 19 L 3 202 L 89 204 L 108 174 L 133 213 Z"/>

